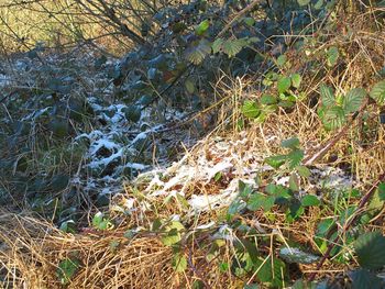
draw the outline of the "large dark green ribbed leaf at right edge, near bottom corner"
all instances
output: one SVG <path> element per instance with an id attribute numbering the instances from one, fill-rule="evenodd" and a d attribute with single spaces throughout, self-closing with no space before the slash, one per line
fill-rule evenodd
<path id="1" fill-rule="evenodd" d="M 380 269 L 385 265 L 385 237 L 378 232 L 360 235 L 354 243 L 359 264 L 365 269 Z"/>

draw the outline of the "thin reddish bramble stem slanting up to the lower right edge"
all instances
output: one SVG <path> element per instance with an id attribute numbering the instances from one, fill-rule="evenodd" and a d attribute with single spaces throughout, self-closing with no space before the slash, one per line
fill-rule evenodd
<path id="1" fill-rule="evenodd" d="M 381 175 L 377 179 L 377 181 L 372 186 L 372 188 L 366 192 L 366 194 L 361 199 L 359 207 L 356 208 L 353 216 L 349 219 L 346 224 L 343 226 L 341 234 L 344 234 L 348 229 L 354 223 L 356 218 L 359 216 L 359 213 L 364 208 L 364 205 L 367 203 L 367 201 L 371 199 L 372 194 L 377 189 L 378 185 L 381 182 L 385 181 L 385 174 Z M 333 247 L 339 243 L 340 234 L 329 244 L 327 252 L 323 254 L 322 258 L 317 264 L 316 270 L 309 276 L 308 280 L 311 282 L 318 273 L 318 270 L 322 267 L 323 263 L 327 258 L 329 258 L 331 251 Z"/>

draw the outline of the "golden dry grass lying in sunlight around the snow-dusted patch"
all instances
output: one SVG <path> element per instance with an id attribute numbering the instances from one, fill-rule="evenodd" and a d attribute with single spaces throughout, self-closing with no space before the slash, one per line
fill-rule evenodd
<path id="1" fill-rule="evenodd" d="M 375 82 L 374 73 L 380 70 L 385 63 L 384 32 L 372 32 L 367 27 L 367 15 L 360 15 L 351 24 L 354 33 L 346 36 L 344 27 L 337 31 L 324 45 L 341 45 L 344 49 L 345 66 L 339 70 L 330 70 L 321 78 L 314 78 L 304 70 L 304 82 L 309 96 L 317 95 L 315 88 L 320 82 L 328 82 L 334 88 L 344 92 L 351 87 L 363 86 L 370 88 Z M 341 23 L 343 25 L 343 23 Z M 348 24 L 346 24 L 348 25 Z M 348 37 L 348 38 L 346 38 Z M 318 47 L 323 49 L 323 47 Z M 293 60 L 298 55 L 293 55 Z M 306 59 L 305 59 L 306 60 Z M 300 66 L 300 65 L 299 65 Z M 317 71 L 316 74 L 317 75 Z M 244 80 L 246 81 L 246 80 Z M 254 81 L 254 80 L 248 80 Z M 239 81 L 238 81 L 239 82 Z M 235 91 L 235 92 L 234 92 Z M 222 124 L 219 132 L 227 127 L 226 137 L 228 141 L 237 141 L 235 132 L 229 133 L 228 123 L 235 123 L 240 116 L 237 105 L 242 99 L 253 96 L 257 98 L 258 91 L 250 91 L 246 82 L 235 89 L 229 90 L 229 96 L 235 105 L 234 113 L 229 118 L 223 113 Z M 378 176 L 385 171 L 385 130 L 378 123 L 377 109 L 370 104 L 365 111 L 369 121 L 356 120 L 349 133 L 320 160 L 321 164 L 333 166 L 351 165 L 351 174 L 363 189 L 370 187 Z M 231 122 L 233 121 L 233 122 Z M 222 130 L 221 130 L 222 129 Z M 272 114 L 263 124 L 252 125 L 245 133 L 248 142 L 233 148 L 231 153 L 242 155 L 254 154 L 255 157 L 279 153 L 282 140 L 297 135 L 301 145 L 308 154 L 318 149 L 318 146 L 327 142 L 332 133 L 326 133 L 316 114 L 316 108 L 309 108 L 308 103 L 300 102 L 295 111 L 288 113 L 280 110 Z M 198 144 L 188 152 L 187 162 L 195 163 L 198 156 L 207 152 L 210 138 Z M 337 160 L 336 157 L 337 156 Z M 207 154 L 207 158 L 213 156 Z M 333 160 L 330 160 L 333 158 Z M 217 184 L 191 182 L 186 196 L 212 194 L 220 188 Z M 130 189 L 123 193 L 124 198 L 133 196 Z M 170 247 L 164 246 L 156 234 L 151 232 L 140 233 L 133 238 L 124 237 L 128 229 L 148 224 L 158 216 L 180 214 L 183 210 L 175 203 L 164 204 L 162 197 L 153 200 L 158 207 L 157 215 L 153 212 L 145 213 L 143 220 L 135 215 L 124 219 L 121 225 L 112 231 L 103 233 L 92 229 L 85 229 L 78 234 L 64 234 L 52 224 L 41 221 L 28 214 L 14 214 L 6 211 L 0 212 L 0 262 L 4 276 L 4 286 L 13 288 L 59 288 L 56 278 L 57 264 L 61 259 L 76 255 L 81 260 L 81 268 L 72 280 L 69 288 L 191 288 L 195 280 L 201 280 L 212 288 L 240 288 L 242 281 L 238 280 L 230 271 L 221 273 L 216 262 L 209 262 L 205 256 L 210 249 L 211 240 L 209 234 L 200 234 L 197 238 L 185 242 L 183 248 L 188 259 L 188 269 L 177 274 L 172 268 L 173 252 Z M 295 224 L 288 225 L 284 216 L 278 212 L 274 221 L 266 219 L 261 212 L 242 216 L 242 221 L 255 224 L 258 221 L 266 231 L 266 235 L 280 236 L 283 240 L 294 238 L 300 244 L 315 247 L 315 225 L 319 220 L 318 209 L 310 210 Z M 190 224 L 191 231 L 198 224 L 205 224 L 212 219 L 220 219 L 222 212 L 212 210 L 197 216 L 196 223 Z M 119 218 L 119 216 L 117 216 Z M 383 220 L 381 214 L 373 220 L 370 226 L 376 226 Z M 117 248 L 111 247 L 111 242 L 118 242 Z M 267 255 L 274 255 L 272 247 L 262 248 Z M 233 247 L 228 242 L 221 251 L 222 259 L 230 259 L 233 256 Z M 328 270 L 319 271 L 320 275 L 344 271 L 342 265 L 328 264 Z M 352 264 L 354 266 L 354 264 Z M 311 273 L 315 266 L 300 268 L 298 276 Z"/>

